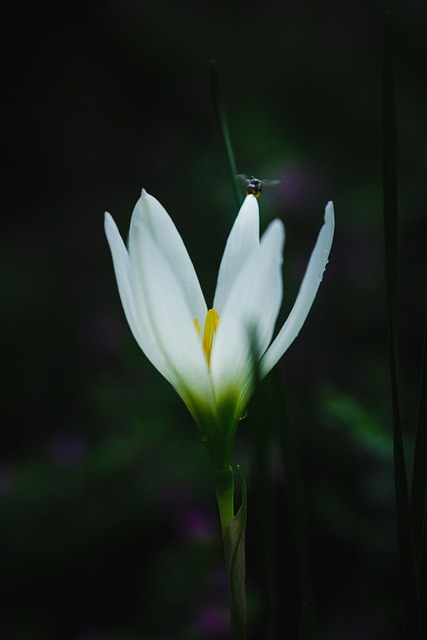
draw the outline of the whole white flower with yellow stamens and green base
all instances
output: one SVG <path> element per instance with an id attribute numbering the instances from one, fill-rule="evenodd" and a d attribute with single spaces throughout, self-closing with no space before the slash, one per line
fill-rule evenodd
<path id="1" fill-rule="evenodd" d="M 316 296 L 334 233 L 332 202 L 294 307 L 273 341 L 285 231 L 275 220 L 260 241 L 253 195 L 245 198 L 228 237 L 209 310 L 182 238 L 153 196 L 142 191 L 128 248 L 109 213 L 105 232 L 136 341 L 184 400 L 214 466 L 227 466 L 255 378 L 264 377 L 297 337 Z"/>

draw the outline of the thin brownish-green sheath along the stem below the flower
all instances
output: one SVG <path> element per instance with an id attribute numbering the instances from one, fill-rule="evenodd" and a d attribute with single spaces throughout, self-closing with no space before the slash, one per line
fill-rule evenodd
<path id="1" fill-rule="evenodd" d="M 245 531 L 247 491 L 242 470 L 237 467 L 242 488 L 242 504 L 224 534 L 225 566 L 230 595 L 231 637 L 246 640 Z"/>

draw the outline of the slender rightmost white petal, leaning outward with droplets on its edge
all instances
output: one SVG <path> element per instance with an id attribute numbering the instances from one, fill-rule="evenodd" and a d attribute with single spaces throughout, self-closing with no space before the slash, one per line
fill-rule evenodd
<path id="1" fill-rule="evenodd" d="M 325 222 L 318 235 L 313 253 L 311 254 L 295 304 L 279 334 L 262 358 L 261 374 L 263 376 L 267 375 L 270 369 L 280 360 L 297 337 L 307 318 L 328 262 L 332 239 L 334 237 L 334 227 L 334 206 L 332 202 L 329 202 L 325 209 Z"/>

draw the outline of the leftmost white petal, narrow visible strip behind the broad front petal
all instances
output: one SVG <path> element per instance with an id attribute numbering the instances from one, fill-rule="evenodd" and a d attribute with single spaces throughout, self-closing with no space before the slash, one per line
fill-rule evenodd
<path id="1" fill-rule="evenodd" d="M 147 311 L 141 304 L 138 305 L 138 309 L 135 306 L 129 254 L 116 223 L 108 212 L 105 213 L 105 234 L 113 258 L 120 299 L 134 338 L 150 362 L 171 382 L 167 360 L 165 360 L 162 351 L 158 347 L 156 337 L 148 320 Z"/>

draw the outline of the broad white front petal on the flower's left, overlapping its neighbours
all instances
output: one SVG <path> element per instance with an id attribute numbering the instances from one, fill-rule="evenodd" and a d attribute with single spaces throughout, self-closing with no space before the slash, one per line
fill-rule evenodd
<path id="1" fill-rule="evenodd" d="M 212 386 L 194 326 L 193 312 L 174 268 L 150 233 L 142 233 L 131 255 L 136 309 L 146 313 L 168 366 L 168 380 L 184 401 L 194 392 L 207 403 Z"/>

